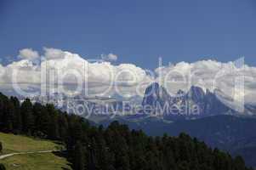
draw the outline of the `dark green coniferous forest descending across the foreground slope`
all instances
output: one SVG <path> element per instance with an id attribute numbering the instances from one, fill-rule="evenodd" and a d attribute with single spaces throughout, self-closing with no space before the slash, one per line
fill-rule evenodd
<path id="1" fill-rule="evenodd" d="M 247 170 L 241 156 L 211 149 L 185 133 L 150 137 L 127 125 L 92 126 L 54 105 L 0 94 L 0 131 L 65 144 L 74 170 Z M 1 140 L 1 139 L 0 139 Z"/>

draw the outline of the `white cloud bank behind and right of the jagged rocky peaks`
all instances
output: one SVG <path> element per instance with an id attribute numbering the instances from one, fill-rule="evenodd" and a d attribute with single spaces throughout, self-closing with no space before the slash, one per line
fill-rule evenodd
<path id="1" fill-rule="evenodd" d="M 256 95 L 256 68 L 243 65 L 242 60 L 228 63 L 215 60 L 180 62 L 157 68 L 156 74 L 170 94 L 179 89 L 188 91 L 191 85 L 195 85 L 212 92 L 219 89 L 230 99 L 245 99 L 245 103 L 250 103 L 252 99 L 249 96 Z"/>

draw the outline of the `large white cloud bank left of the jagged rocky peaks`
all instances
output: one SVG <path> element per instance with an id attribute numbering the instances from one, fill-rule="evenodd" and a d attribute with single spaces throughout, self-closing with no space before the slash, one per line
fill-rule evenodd
<path id="1" fill-rule="evenodd" d="M 145 71 L 136 65 L 111 65 L 110 62 L 101 59 L 88 62 L 80 55 L 68 51 L 56 48 L 43 49 L 41 63 L 21 58 L 9 65 L 1 65 L 0 80 L 9 86 L 2 86 L 0 90 L 6 91 L 11 88 L 16 93 L 25 95 L 26 93 L 20 92 L 47 88 L 47 91 L 60 90 L 60 93 L 65 93 L 69 89 L 75 89 L 77 93 L 88 95 L 109 96 L 118 91 L 130 96 L 136 94 L 134 87 L 140 82 L 150 80 Z"/>

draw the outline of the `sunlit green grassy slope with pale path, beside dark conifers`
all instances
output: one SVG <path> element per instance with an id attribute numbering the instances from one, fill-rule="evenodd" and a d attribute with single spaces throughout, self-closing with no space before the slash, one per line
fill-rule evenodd
<path id="1" fill-rule="evenodd" d="M 3 154 L 26 151 L 58 150 L 60 144 L 52 141 L 31 139 L 25 136 L 0 133 L 0 141 L 3 143 Z M 0 160 L 7 170 L 61 170 L 71 169 L 64 157 L 54 153 L 17 155 Z"/>

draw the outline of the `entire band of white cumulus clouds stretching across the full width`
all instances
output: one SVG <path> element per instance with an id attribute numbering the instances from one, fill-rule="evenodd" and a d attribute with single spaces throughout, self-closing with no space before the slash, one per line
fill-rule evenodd
<path id="1" fill-rule="evenodd" d="M 133 64 L 112 65 L 109 60 L 117 59 L 117 56 L 113 57 L 115 54 L 108 54 L 103 61 L 90 62 L 79 54 L 44 48 L 43 60 L 37 64 L 33 62 L 40 56 L 37 51 L 26 48 L 20 50 L 19 55 L 19 61 L 0 65 L 0 82 L 3 84 L 0 90 L 3 92 L 42 91 L 42 88 L 51 92 L 68 92 L 72 89 L 88 95 L 130 97 L 143 96 L 145 88 L 157 81 L 170 94 L 179 89 L 187 91 L 191 85 L 196 85 L 212 91 L 218 88 L 234 99 L 244 97 L 247 103 L 256 99 L 256 68 L 239 66 L 240 60 L 228 63 L 216 60 L 179 62 L 161 66 L 148 74 Z"/>

